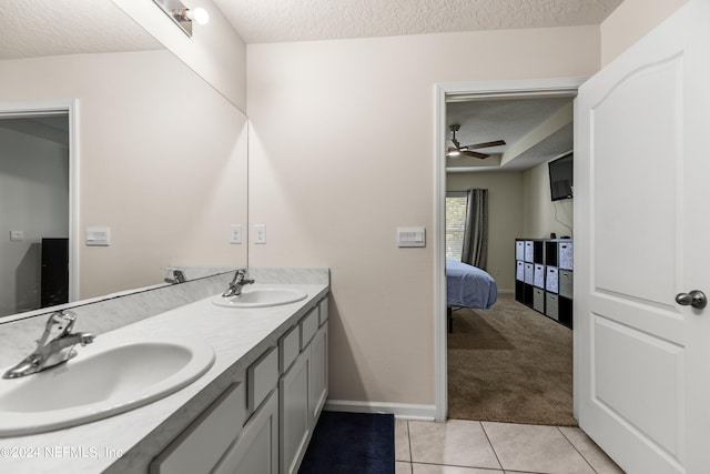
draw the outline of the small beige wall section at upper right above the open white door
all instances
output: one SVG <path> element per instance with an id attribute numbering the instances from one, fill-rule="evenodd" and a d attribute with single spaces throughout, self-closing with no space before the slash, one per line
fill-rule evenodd
<path id="1" fill-rule="evenodd" d="M 668 18 L 688 0 L 625 0 L 600 26 L 601 65 Z"/>

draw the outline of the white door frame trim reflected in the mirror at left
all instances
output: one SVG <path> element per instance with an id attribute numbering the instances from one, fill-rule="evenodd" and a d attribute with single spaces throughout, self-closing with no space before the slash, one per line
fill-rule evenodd
<path id="1" fill-rule="evenodd" d="M 69 121 L 69 301 L 79 300 L 79 100 L 0 102 L 0 118 L 67 113 Z"/>

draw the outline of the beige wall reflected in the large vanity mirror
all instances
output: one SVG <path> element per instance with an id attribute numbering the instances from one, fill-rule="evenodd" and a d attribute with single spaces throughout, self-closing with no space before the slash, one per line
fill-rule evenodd
<path id="1" fill-rule="evenodd" d="M 246 117 L 169 51 L 0 61 L 0 101 L 79 99 L 80 293 L 246 264 Z M 184 93 L 190 91 L 190 93 Z M 84 246 L 109 225 L 110 246 Z"/>

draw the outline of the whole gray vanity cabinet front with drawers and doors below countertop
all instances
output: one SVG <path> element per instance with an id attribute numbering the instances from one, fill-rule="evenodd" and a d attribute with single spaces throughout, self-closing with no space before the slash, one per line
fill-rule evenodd
<path id="1" fill-rule="evenodd" d="M 151 474 L 296 474 L 328 393 L 327 297 L 150 465 Z"/>

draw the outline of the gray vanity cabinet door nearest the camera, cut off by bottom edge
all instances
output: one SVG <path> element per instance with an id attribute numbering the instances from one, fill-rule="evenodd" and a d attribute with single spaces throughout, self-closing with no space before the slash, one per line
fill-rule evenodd
<path id="1" fill-rule="evenodd" d="M 278 474 L 278 393 L 246 423 L 212 474 Z"/>

